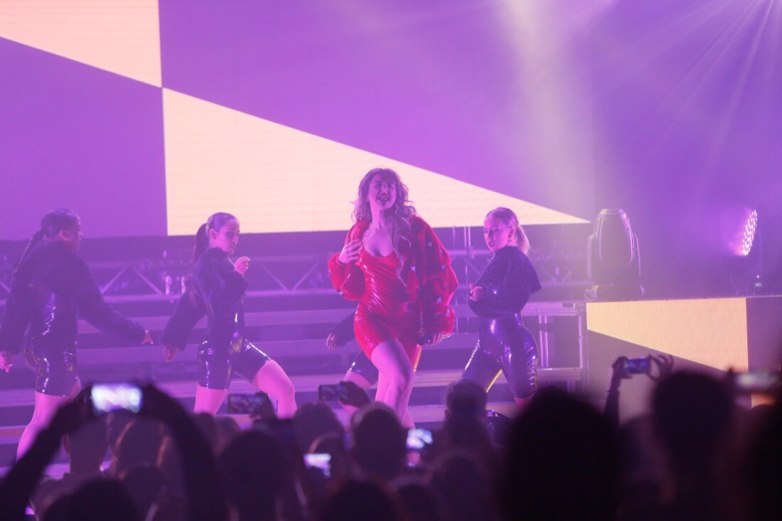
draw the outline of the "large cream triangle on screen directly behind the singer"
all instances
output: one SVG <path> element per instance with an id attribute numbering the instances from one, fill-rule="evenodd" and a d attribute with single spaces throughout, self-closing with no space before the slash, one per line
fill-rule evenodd
<path id="1" fill-rule="evenodd" d="M 434 227 L 481 225 L 500 206 L 524 225 L 587 222 L 166 88 L 163 118 L 172 235 L 216 211 L 239 217 L 242 232 L 344 230 L 358 182 L 378 166 L 400 173 Z"/>

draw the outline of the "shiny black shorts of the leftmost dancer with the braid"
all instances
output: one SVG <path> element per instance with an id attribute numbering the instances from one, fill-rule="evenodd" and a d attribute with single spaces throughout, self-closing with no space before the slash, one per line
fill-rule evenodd
<path id="1" fill-rule="evenodd" d="M 70 396 L 76 374 L 76 343 L 53 344 L 33 339 L 24 349 L 24 360 L 35 375 L 35 390 L 52 396 Z"/>

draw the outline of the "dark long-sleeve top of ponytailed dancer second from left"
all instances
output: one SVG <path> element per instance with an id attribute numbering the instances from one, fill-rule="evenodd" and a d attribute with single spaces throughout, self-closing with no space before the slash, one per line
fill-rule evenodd
<path id="1" fill-rule="evenodd" d="M 249 286 L 239 275 L 228 254 L 220 248 L 209 248 L 195 262 L 188 290 L 183 294 L 174 314 L 168 319 L 161 343 L 184 349 L 188 334 L 206 314 L 206 341 L 228 347 L 244 337 L 244 306 L 242 297 Z"/>

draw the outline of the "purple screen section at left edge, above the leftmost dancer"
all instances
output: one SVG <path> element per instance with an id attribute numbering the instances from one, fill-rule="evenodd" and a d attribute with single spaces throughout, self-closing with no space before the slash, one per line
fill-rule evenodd
<path id="1" fill-rule="evenodd" d="M 70 207 L 84 235 L 166 228 L 160 88 L 0 38 L 0 239 Z"/>

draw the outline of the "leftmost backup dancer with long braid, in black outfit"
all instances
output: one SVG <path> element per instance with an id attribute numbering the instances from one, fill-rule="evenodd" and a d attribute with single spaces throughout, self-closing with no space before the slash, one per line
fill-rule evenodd
<path id="1" fill-rule="evenodd" d="M 41 220 L 13 272 L 0 328 L 0 370 L 24 349 L 36 372 L 33 418 L 16 451 L 24 454 L 57 408 L 81 389 L 76 369 L 77 314 L 102 331 L 133 343 L 152 343 L 149 331 L 113 311 L 89 268 L 77 255 L 81 221 L 71 210 L 51 210 Z M 27 333 L 27 335 L 25 335 Z"/>

